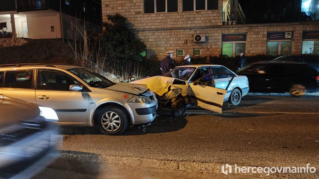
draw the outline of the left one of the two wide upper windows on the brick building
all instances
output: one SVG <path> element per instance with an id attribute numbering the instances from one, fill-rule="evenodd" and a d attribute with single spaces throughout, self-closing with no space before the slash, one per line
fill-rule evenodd
<path id="1" fill-rule="evenodd" d="M 144 0 L 144 13 L 177 12 L 178 0 Z"/>

